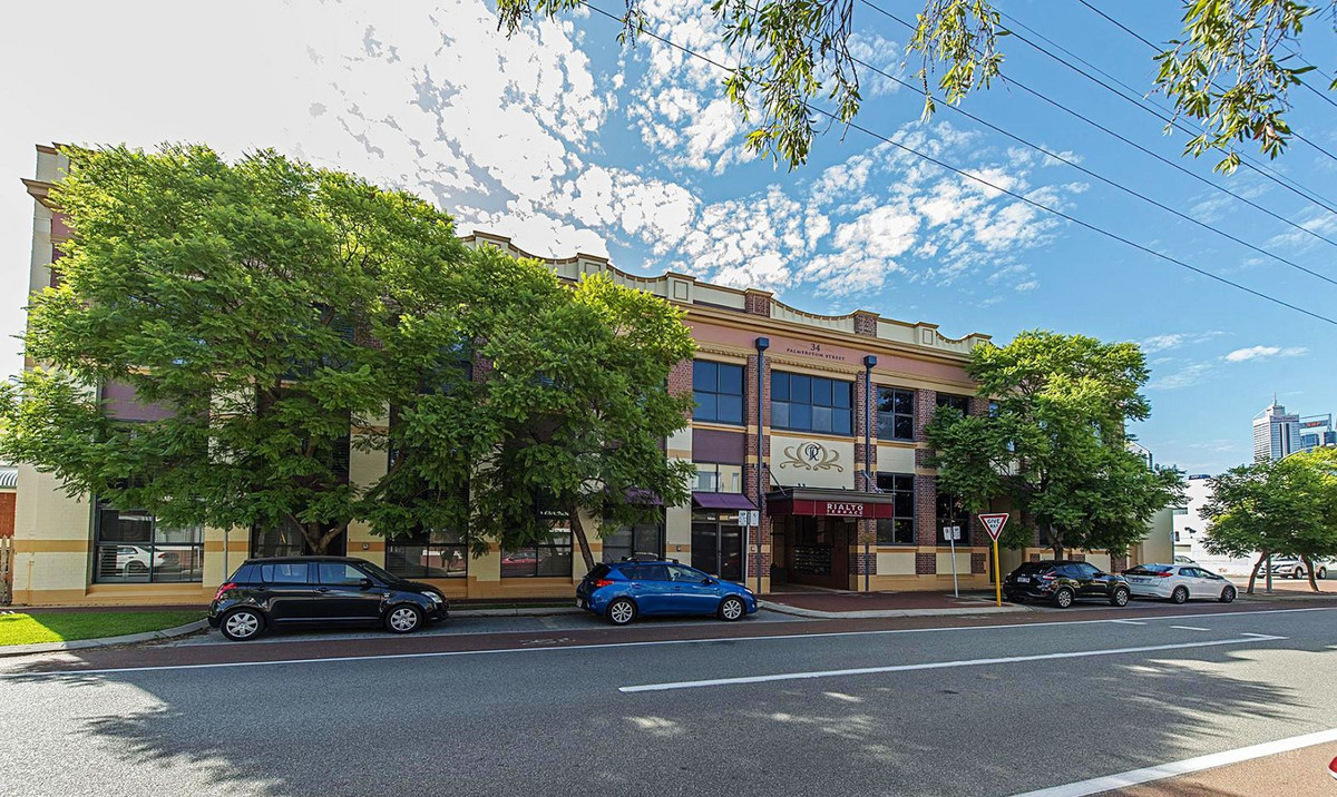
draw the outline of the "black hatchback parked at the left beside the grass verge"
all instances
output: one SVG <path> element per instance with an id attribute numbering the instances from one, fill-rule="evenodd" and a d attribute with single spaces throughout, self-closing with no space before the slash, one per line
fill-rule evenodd
<path id="1" fill-rule="evenodd" d="M 271 627 L 380 625 L 406 634 L 445 617 L 441 590 L 346 557 L 247 559 L 209 606 L 209 625 L 235 642 Z"/>

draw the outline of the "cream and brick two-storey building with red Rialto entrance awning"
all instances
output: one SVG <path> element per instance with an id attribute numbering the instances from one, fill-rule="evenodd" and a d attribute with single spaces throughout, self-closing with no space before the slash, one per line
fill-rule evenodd
<path id="1" fill-rule="evenodd" d="M 47 203 L 60 156 L 39 147 L 32 291 L 51 284 L 49 266 L 68 230 Z M 505 238 L 475 232 L 471 246 L 515 255 Z M 936 324 L 876 312 L 806 312 L 761 290 L 713 286 L 693 276 L 635 276 L 607 259 L 547 259 L 566 279 L 607 274 L 686 311 L 697 359 L 678 366 L 675 390 L 693 391 L 690 425 L 666 441 L 668 457 L 697 467 L 691 501 L 662 507 L 659 521 L 604 530 L 596 558 L 675 557 L 759 591 L 786 583 L 836 589 L 945 589 L 989 585 L 988 535 L 925 467 L 924 427 L 937 407 L 984 414 L 988 402 L 964 366 L 985 335 L 944 336 Z M 29 363 L 31 366 L 31 363 Z M 151 421 L 160 409 L 132 391 L 102 386 L 107 411 Z M 386 419 L 388 423 L 388 419 Z M 349 479 L 369 485 L 384 451 L 353 450 Z M 742 525 L 757 521 L 757 525 Z M 590 527 L 596 527 L 590 519 Z M 944 527 L 959 526 L 955 559 Z M 70 498 L 49 474 L 19 469 L 15 602 L 183 603 L 206 601 L 247 557 L 302 553 L 285 529 L 172 529 L 135 507 Z M 544 545 L 471 557 L 461 535 L 386 541 L 353 523 L 348 555 L 440 586 L 452 598 L 568 597 L 584 575 L 568 529 L 554 519 Z M 1004 567 L 1040 557 L 1007 551 Z M 1090 553 L 1098 566 L 1110 557 Z"/>

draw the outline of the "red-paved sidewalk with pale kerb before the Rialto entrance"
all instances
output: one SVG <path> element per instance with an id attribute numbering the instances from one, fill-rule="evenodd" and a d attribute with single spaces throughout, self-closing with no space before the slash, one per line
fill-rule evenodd
<path id="1" fill-rule="evenodd" d="M 852 593 L 794 591 L 763 595 L 762 607 L 798 617 L 825 619 L 860 619 L 878 617 L 933 617 L 953 614 L 1004 614 L 1031 611 L 1025 606 L 1004 602 L 997 606 L 993 593 Z"/>

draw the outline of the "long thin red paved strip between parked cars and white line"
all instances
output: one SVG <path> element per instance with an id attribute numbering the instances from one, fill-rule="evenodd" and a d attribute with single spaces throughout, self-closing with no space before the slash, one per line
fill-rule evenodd
<path id="1" fill-rule="evenodd" d="M 1317 601 L 1314 602 L 1317 606 Z M 1324 602 L 1337 607 L 1337 601 Z M 892 629 L 989 627 L 1004 625 L 1039 625 L 1050 622 L 1139 619 L 1182 614 L 1221 614 L 1225 611 L 1263 611 L 1274 603 L 1199 603 L 1155 605 L 1136 609 L 1092 607 L 1035 614 L 904 617 L 877 619 L 814 619 L 796 622 L 741 622 L 726 625 L 702 621 L 699 625 L 656 626 L 643 622 L 631 627 L 612 627 L 590 618 L 590 629 L 559 631 L 507 631 L 496 634 L 457 635 L 384 635 L 358 639 L 310 639 L 293 642 L 198 646 L 127 646 L 79 650 L 41 657 L 0 661 L 0 674 L 57 673 L 90 669 L 183 666 L 202 663 L 239 663 L 309 658 L 401 655 L 464 650 L 503 650 L 512 647 L 576 647 L 616 642 L 658 642 L 664 639 L 717 639 L 721 637 L 753 638 L 792 634 L 830 634 Z"/>

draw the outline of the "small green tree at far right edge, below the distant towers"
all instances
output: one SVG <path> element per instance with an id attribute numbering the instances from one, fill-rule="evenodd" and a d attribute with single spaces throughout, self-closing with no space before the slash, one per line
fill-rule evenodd
<path id="1" fill-rule="evenodd" d="M 1211 499 L 1201 510 L 1210 525 L 1203 541 L 1215 555 L 1258 554 L 1249 573 L 1254 591 L 1258 569 L 1270 555 L 1305 562 L 1309 586 L 1314 561 L 1337 555 L 1337 455 L 1318 450 L 1280 461 L 1233 467 L 1209 481 Z"/>

